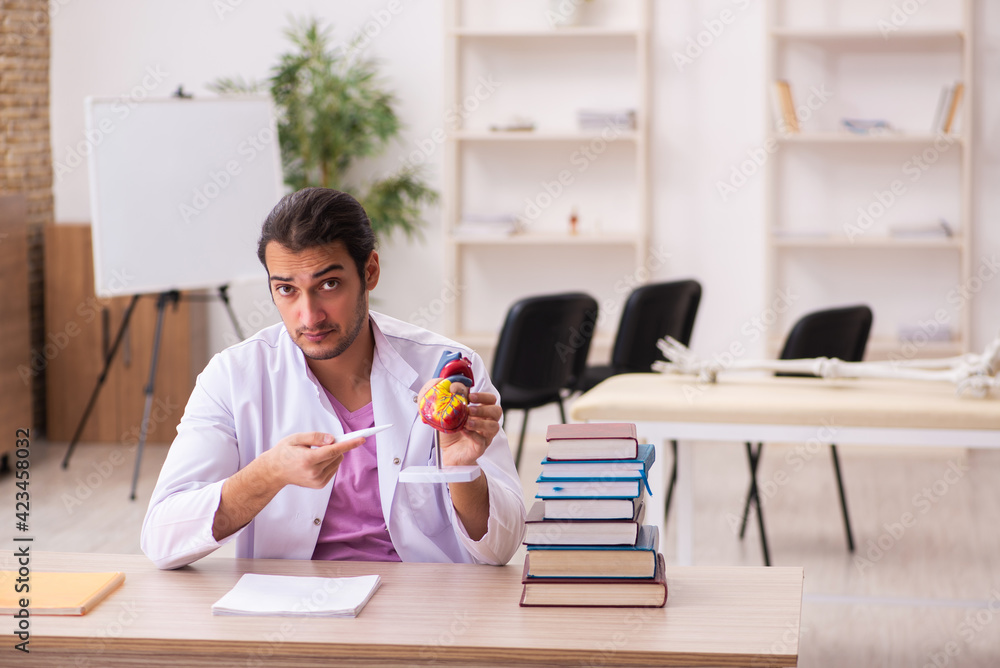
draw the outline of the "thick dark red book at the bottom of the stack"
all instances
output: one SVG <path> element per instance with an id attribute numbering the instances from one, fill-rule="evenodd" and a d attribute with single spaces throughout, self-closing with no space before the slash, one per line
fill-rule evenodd
<path id="1" fill-rule="evenodd" d="M 531 555 L 524 559 L 522 607 L 662 608 L 667 602 L 663 555 L 656 555 L 656 574 L 650 578 L 533 578 L 528 576 Z"/>

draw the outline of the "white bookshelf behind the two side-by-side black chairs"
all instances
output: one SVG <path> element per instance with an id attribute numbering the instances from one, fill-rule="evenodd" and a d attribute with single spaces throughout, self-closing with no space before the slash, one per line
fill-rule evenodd
<path id="1" fill-rule="evenodd" d="M 446 2 L 446 109 L 461 109 L 479 77 L 496 76 L 500 82 L 496 99 L 484 100 L 483 109 L 468 117 L 458 114 L 446 128 L 444 144 L 446 280 L 463 286 L 450 305 L 448 330 L 456 340 L 480 349 L 496 343 L 497 323 L 515 297 L 576 289 L 594 294 L 604 311 L 608 300 L 601 298 L 599 288 L 610 290 L 617 283 L 614 277 L 635 274 L 649 253 L 652 0 L 591 0 L 583 3 L 588 15 L 572 27 L 546 25 L 545 7 L 537 0 Z M 581 130 L 573 113 L 581 108 L 634 109 L 635 128 Z M 532 120 L 537 116 L 535 128 L 490 129 L 508 122 L 512 109 Z M 605 188 L 588 170 L 578 172 L 568 162 L 574 151 L 587 146 L 600 147 L 602 157 L 594 171 L 605 170 L 615 184 Z M 546 171 L 540 165 L 551 167 Z M 561 169 L 573 170 L 573 197 L 586 200 L 579 207 L 576 234 L 570 233 L 564 211 L 573 200 L 569 196 L 556 198 L 527 231 L 502 235 L 461 230 L 465 214 L 496 213 L 506 202 L 507 210 L 500 213 L 520 210 L 540 191 L 539 183 L 550 178 L 546 175 L 554 179 Z M 625 212 L 621 216 L 615 215 L 619 207 Z M 541 256 L 546 261 L 537 262 Z M 605 259 L 609 266 L 600 269 L 606 277 L 599 278 L 594 265 L 603 265 Z M 490 262 L 494 264 L 487 267 Z M 532 262 L 544 265 L 539 281 L 520 290 L 513 287 L 518 276 L 510 273 L 525 272 L 497 271 L 498 266 Z M 557 281 L 544 278 L 545 271 L 558 274 L 558 287 Z M 509 295 L 493 296 L 503 289 Z M 487 315 L 480 301 L 484 299 L 497 302 Z M 610 328 L 599 326 L 594 350 L 610 348 L 613 332 L 608 330 L 617 323 L 613 320 Z"/>

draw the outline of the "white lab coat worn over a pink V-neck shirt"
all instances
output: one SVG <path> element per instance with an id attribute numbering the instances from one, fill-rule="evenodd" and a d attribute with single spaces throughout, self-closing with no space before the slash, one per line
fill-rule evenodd
<path id="1" fill-rule="evenodd" d="M 501 429 L 479 465 L 489 484 L 487 533 L 472 540 L 455 514 L 447 485 L 399 484 L 401 468 L 431 463 L 433 430 L 418 417 L 417 392 L 444 350 L 472 361 L 473 391 L 496 394 L 482 359 L 442 336 L 372 312 L 371 371 L 382 513 L 403 561 L 505 564 L 524 536 L 525 508 Z M 333 487 L 287 485 L 246 527 L 216 541 L 212 523 L 222 483 L 285 436 L 344 428 L 302 351 L 281 323 L 216 355 L 198 381 L 163 464 L 142 525 L 143 552 L 160 568 L 178 568 L 230 540 L 238 557 L 310 559 Z"/>

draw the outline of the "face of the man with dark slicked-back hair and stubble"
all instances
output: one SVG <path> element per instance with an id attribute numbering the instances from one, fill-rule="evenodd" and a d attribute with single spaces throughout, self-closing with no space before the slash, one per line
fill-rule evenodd
<path id="1" fill-rule="evenodd" d="M 306 357 L 328 360 L 351 347 L 368 322 L 368 290 L 378 283 L 372 253 L 362 283 L 342 242 L 293 253 L 272 241 L 264 252 L 271 296 Z"/>

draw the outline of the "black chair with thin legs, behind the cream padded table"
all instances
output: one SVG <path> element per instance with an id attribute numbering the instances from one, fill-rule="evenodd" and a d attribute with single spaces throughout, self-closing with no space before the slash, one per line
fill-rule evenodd
<path id="1" fill-rule="evenodd" d="M 860 362 L 865 356 L 865 346 L 868 344 L 868 334 L 872 326 L 872 311 L 864 305 L 847 306 L 808 313 L 792 327 L 785 339 L 780 359 L 810 359 L 814 357 L 836 357 L 845 362 Z M 777 373 L 777 376 L 805 376 L 812 374 Z M 740 525 L 740 539 L 746 533 L 747 517 L 750 514 L 750 504 L 757 508 L 757 523 L 760 528 L 760 540 L 764 550 L 764 564 L 771 565 L 767 549 L 767 535 L 764 533 L 764 514 L 760 507 L 760 497 L 757 493 L 757 466 L 764 450 L 764 444 L 758 443 L 756 449 L 752 443 L 746 444 L 747 460 L 750 464 L 750 489 L 747 492 L 746 503 L 743 505 L 743 521 Z M 837 489 L 840 492 L 840 510 L 844 517 L 844 530 L 847 533 L 847 549 L 854 552 L 854 535 L 851 532 L 851 521 L 847 515 L 847 500 L 844 497 L 844 482 L 840 474 L 840 458 L 837 456 L 837 446 L 830 446 L 833 455 L 833 470 L 837 476 Z"/>

